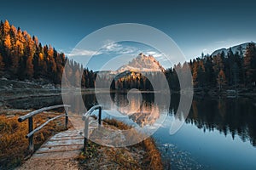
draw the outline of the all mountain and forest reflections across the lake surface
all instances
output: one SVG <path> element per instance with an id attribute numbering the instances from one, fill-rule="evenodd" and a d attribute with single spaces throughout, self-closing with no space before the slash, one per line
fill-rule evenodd
<path id="1" fill-rule="evenodd" d="M 153 125 L 163 112 L 169 111 L 169 114 L 175 114 L 180 101 L 180 95 L 172 94 L 171 105 L 161 105 L 154 103 L 154 94 L 143 94 L 143 101 L 140 105 L 137 96 L 131 96 L 130 107 L 127 94 L 112 93 L 104 94 L 105 109 L 118 109 L 118 111 L 126 116 L 129 116 L 134 122 L 137 122 L 141 127 Z M 104 97 L 104 95 L 102 95 Z M 112 101 L 108 101 L 107 95 L 111 96 Z M 165 95 L 165 94 L 163 94 Z M 84 103 L 79 102 L 77 95 L 71 95 L 68 98 L 71 103 L 71 112 L 82 115 L 86 109 L 96 105 L 95 94 L 84 94 Z M 162 99 L 165 99 L 164 97 Z M 113 105 L 114 103 L 114 105 Z M 162 102 L 164 103 L 164 102 Z M 62 104 L 61 96 L 34 98 L 34 99 L 17 99 L 9 101 L 8 105 L 12 108 L 20 109 L 38 109 L 49 105 Z M 186 123 L 193 124 L 202 129 L 204 132 L 218 130 L 223 135 L 231 135 L 232 138 L 239 136 L 244 142 L 249 141 L 253 146 L 256 146 L 256 101 L 253 99 L 193 99 L 189 116 Z M 85 107 L 83 106 L 85 105 Z M 119 107 L 117 107 L 117 105 Z M 84 109 L 85 108 L 85 109 Z M 183 119 L 183 117 L 178 117 Z"/>

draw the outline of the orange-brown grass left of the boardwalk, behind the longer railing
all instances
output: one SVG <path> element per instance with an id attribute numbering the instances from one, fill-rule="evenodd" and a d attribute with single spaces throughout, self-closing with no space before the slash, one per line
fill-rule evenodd
<path id="1" fill-rule="evenodd" d="M 27 121 L 18 122 L 18 117 L 29 111 L 1 111 L 0 112 L 0 169 L 13 169 L 25 161 L 28 153 L 28 140 L 25 138 L 28 133 Z M 34 116 L 34 127 L 38 127 L 49 118 L 58 113 L 41 113 Z M 34 144 L 37 150 L 51 135 L 64 130 L 64 119 L 60 118 L 34 134 Z"/>

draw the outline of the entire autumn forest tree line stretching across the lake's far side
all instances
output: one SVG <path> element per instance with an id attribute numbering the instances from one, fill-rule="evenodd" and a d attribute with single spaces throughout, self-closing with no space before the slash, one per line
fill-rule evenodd
<path id="1" fill-rule="evenodd" d="M 67 59 L 65 54 L 57 52 L 50 45 L 42 46 L 37 37 L 31 37 L 26 31 L 21 31 L 20 27 L 9 25 L 8 20 L 1 21 L 0 77 L 19 80 L 44 79 L 61 84 L 66 63 L 69 85 L 77 87 L 81 83 L 83 88 L 95 87 L 96 72 L 84 69 L 83 65 Z M 179 90 L 177 71 L 183 71 L 187 65 L 195 88 L 255 88 L 256 46 L 253 42 L 248 43 L 245 53 L 241 47 L 235 54 L 230 48 L 227 54 L 224 52 L 214 56 L 202 54 L 200 58 L 166 69 L 164 74 L 172 90 Z M 148 72 L 146 77 L 140 73 L 130 72 L 124 77 L 114 79 L 110 88 L 153 90 L 147 77 L 157 79 L 159 76 L 155 72 Z M 104 82 L 113 77 L 100 78 Z"/>

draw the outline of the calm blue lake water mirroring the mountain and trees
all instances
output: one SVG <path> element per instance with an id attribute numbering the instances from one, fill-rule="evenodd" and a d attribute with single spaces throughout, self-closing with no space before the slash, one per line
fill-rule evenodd
<path id="1" fill-rule="evenodd" d="M 106 94 L 109 95 L 109 94 Z M 164 95 L 164 94 L 163 94 Z M 126 94 L 111 94 L 113 102 L 127 105 Z M 86 108 L 96 105 L 95 94 L 84 94 Z M 155 105 L 154 94 L 143 94 L 143 103 L 137 114 L 129 118 L 140 126 L 152 125 L 158 117 L 166 120 L 153 137 L 166 164 L 172 169 L 256 169 L 256 101 L 253 99 L 193 99 L 189 116 L 177 133 L 170 135 L 180 96 L 172 94 L 171 105 Z M 71 111 L 79 111 L 77 96 L 72 97 Z M 61 97 L 20 99 L 9 102 L 14 108 L 40 108 L 61 104 Z M 130 100 L 137 108 L 136 97 Z M 106 100 L 106 108 L 113 105 Z M 131 108 L 132 110 L 132 108 Z M 120 112 L 129 114 L 127 109 Z M 154 113 L 154 116 L 150 116 Z"/>

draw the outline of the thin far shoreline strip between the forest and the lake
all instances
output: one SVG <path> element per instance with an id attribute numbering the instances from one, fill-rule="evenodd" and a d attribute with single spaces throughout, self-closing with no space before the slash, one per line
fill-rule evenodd
<path id="1" fill-rule="evenodd" d="M 73 88 L 72 88 L 73 89 Z M 76 90 L 76 89 L 74 89 Z M 202 89 L 195 89 L 193 92 L 194 97 L 204 98 L 204 97 L 211 97 L 211 98 L 217 98 L 217 97 L 224 97 L 224 98 L 251 98 L 256 99 L 256 92 L 248 92 L 244 88 L 237 88 L 236 94 L 229 94 L 227 91 L 230 89 L 225 89 L 222 92 L 218 92 L 216 89 L 212 89 L 210 91 L 206 92 L 205 88 Z M 49 88 L 9 88 L 4 89 L 0 87 L 0 106 L 3 105 L 3 103 L 7 101 L 12 101 L 15 99 L 26 99 L 26 98 L 44 98 L 44 97 L 54 97 L 54 96 L 61 96 L 66 95 L 69 93 L 73 94 L 73 90 L 62 93 L 61 88 L 56 89 L 49 89 Z M 95 88 L 86 88 L 81 90 L 77 89 L 75 93 L 81 93 L 81 94 L 96 94 L 96 93 L 119 93 L 119 94 L 126 94 L 129 92 L 129 90 L 107 90 L 107 89 L 96 89 Z M 154 94 L 154 93 L 164 93 L 164 91 L 136 91 L 132 93 L 142 93 L 142 94 Z M 182 91 L 173 91 L 170 92 L 170 94 L 181 94 L 181 95 L 191 95 L 186 92 Z"/>

